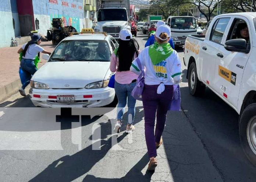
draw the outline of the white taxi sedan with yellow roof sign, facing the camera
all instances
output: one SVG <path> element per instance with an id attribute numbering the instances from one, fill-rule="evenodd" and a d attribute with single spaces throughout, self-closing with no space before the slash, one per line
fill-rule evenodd
<path id="1" fill-rule="evenodd" d="M 38 107 L 102 107 L 114 101 L 107 85 L 111 53 L 117 41 L 104 33 L 73 35 L 62 40 L 47 63 L 33 75 L 29 90 Z"/>

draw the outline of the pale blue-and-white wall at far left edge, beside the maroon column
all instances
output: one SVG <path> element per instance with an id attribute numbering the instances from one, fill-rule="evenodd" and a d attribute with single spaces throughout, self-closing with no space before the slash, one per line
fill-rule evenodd
<path id="1" fill-rule="evenodd" d="M 2 25 L 0 29 L 0 47 L 10 47 L 11 38 L 15 38 L 10 0 L 1 0 L 0 17 Z"/>

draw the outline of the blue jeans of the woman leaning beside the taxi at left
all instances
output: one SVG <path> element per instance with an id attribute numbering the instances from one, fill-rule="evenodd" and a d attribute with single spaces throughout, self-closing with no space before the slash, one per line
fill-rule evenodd
<path id="1" fill-rule="evenodd" d="M 29 84 L 29 81 L 32 78 L 32 75 L 36 73 L 38 69 L 36 68 L 36 65 L 33 59 L 24 59 L 24 58 L 22 58 L 21 60 L 21 69 L 24 72 L 24 74 L 26 74 L 26 78 L 28 79 L 22 84 L 22 88 L 25 89 L 26 86 Z"/>

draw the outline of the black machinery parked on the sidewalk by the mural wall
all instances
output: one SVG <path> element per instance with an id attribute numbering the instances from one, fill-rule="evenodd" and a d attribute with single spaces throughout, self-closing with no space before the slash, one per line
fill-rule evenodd
<path id="1" fill-rule="evenodd" d="M 72 26 L 63 26 L 63 21 L 61 18 L 53 18 L 52 22 L 52 29 L 47 30 L 46 38 L 49 41 L 52 41 L 54 45 L 68 37 L 71 32 L 77 32 L 77 30 Z"/>

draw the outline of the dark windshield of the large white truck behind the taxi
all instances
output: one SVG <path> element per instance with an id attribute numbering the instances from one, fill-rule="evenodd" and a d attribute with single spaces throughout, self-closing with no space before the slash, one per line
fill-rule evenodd
<path id="1" fill-rule="evenodd" d="M 98 22 L 102 21 L 128 21 L 125 9 L 102 9 L 98 11 Z"/>

